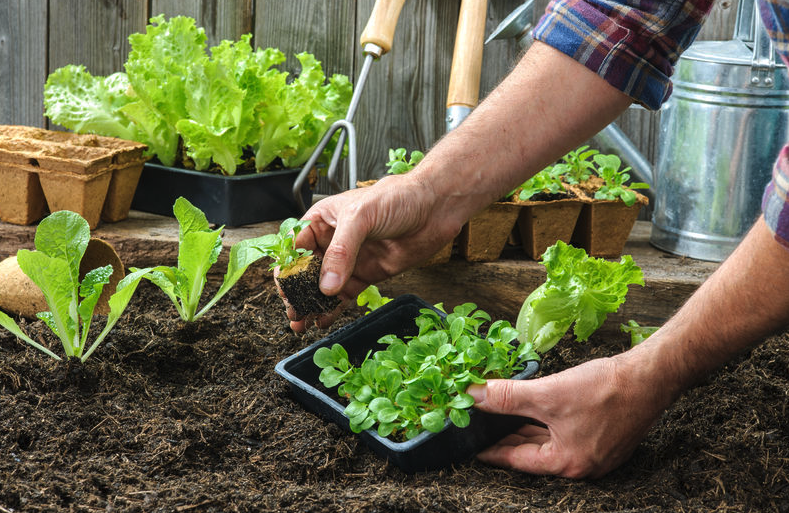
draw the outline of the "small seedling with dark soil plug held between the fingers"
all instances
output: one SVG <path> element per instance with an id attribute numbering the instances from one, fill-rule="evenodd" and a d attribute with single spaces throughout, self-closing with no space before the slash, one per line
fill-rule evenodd
<path id="1" fill-rule="evenodd" d="M 340 304 L 336 296 L 321 292 L 318 284 L 322 259 L 312 251 L 296 247 L 296 236 L 309 221 L 285 219 L 278 233 L 264 235 L 258 249 L 272 259 L 270 269 L 279 267 L 277 284 L 288 303 L 302 317 L 331 312 Z"/>

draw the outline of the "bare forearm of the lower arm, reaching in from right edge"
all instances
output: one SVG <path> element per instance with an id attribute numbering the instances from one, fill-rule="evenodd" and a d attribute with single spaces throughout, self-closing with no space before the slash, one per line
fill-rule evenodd
<path id="1" fill-rule="evenodd" d="M 685 305 L 625 355 L 676 396 L 789 322 L 789 253 L 759 218 Z M 622 355 L 622 356 L 625 356 Z"/>

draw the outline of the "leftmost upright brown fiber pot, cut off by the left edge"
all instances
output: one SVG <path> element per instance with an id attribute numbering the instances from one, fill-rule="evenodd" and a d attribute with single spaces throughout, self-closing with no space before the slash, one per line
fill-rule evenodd
<path id="1" fill-rule="evenodd" d="M 0 221 L 32 224 L 47 213 L 38 174 L 26 166 L 0 162 Z"/>

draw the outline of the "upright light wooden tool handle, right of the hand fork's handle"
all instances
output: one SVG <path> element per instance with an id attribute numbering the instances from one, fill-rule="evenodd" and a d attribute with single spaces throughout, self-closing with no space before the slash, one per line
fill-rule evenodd
<path id="1" fill-rule="evenodd" d="M 487 9 L 487 0 L 463 0 L 460 4 L 447 107 L 477 106 Z"/>

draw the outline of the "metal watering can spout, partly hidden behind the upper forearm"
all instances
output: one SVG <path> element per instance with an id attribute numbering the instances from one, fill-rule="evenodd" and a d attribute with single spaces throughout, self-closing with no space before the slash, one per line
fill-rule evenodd
<path id="1" fill-rule="evenodd" d="M 534 18 L 534 0 L 528 0 L 507 15 L 499 26 L 485 41 L 485 44 L 499 39 L 515 39 L 522 49 L 527 48 L 531 42 L 532 20 Z M 633 142 L 615 124 L 611 123 L 603 128 L 595 137 L 599 150 L 607 153 L 616 153 L 625 166 L 630 166 L 630 175 L 634 181 L 649 184 L 650 188 L 641 191 L 652 202 L 654 193 L 652 186 L 652 166 L 649 161 L 635 147 Z"/>

